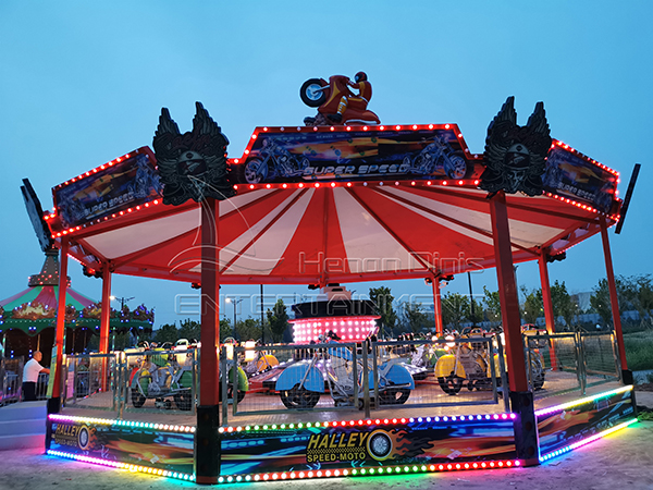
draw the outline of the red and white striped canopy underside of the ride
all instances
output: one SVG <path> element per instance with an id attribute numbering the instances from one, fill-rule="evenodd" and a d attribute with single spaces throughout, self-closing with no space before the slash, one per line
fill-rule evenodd
<path id="1" fill-rule="evenodd" d="M 220 203 L 221 282 L 326 284 L 494 267 L 486 193 L 430 184 L 239 186 Z M 89 268 L 109 261 L 116 273 L 199 282 L 199 205 L 155 203 L 72 233 L 71 255 Z M 508 195 L 507 206 L 516 262 L 567 249 L 597 233 L 600 219 L 614 223 L 555 196 Z"/>

